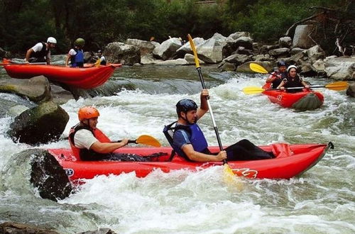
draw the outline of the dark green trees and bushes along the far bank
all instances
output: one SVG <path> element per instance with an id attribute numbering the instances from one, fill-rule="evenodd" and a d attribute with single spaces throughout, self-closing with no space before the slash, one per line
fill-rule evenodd
<path id="1" fill-rule="evenodd" d="M 310 6 L 337 8 L 346 0 L 0 0 L 0 47 L 24 54 L 48 36 L 58 40 L 55 52 L 67 52 L 76 38 L 85 50 L 98 50 L 127 38 L 158 42 L 168 36 L 186 40 L 249 31 L 256 41 L 276 40 L 296 21 L 312 16 Z"/>

